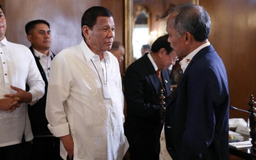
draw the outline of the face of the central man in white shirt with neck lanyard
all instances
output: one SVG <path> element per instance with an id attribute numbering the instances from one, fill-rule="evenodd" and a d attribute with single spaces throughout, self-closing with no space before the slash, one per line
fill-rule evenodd
<path id="1" fill-rule="evenodd" d="M 115 38 L 115 23 L 113 17 L 97 17 L 92 29 L 83 28 L 86 43 L 94 54 L 110 50 Z"/>

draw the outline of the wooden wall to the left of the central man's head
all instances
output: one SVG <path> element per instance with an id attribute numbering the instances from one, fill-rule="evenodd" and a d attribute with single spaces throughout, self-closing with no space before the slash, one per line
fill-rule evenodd
<path id="1" fill-rule="evenodd" d="M 30 46 L 25 24 L 44 19 L 51 25 L 54 53 L 81 42 L 81 17 L 86 9 L 101 6 L 101 0 L 8 0 L 0 1 L 7 19 L 6 37 L 11 42 Z"/>

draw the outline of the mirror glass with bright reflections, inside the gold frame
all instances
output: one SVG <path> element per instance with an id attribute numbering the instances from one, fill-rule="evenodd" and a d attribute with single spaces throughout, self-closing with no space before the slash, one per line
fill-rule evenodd
<path id="1" fill-rule="evenodd" d="M 142 46 L 152 46 L 155 39 L 167 34 L 168 11 L 173 6 L 168 0 L 133 0 L 133 60 L 144 55 Z"/>

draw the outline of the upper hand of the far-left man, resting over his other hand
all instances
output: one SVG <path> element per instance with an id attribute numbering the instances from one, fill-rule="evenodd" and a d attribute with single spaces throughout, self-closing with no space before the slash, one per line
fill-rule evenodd
<path id="1" fill-rule="evenodd" d="M 4 97 L 9 98 L 19 98 L 19 103 L 30 103 L 32 100 L 32 94 L 30 92 L 26 92 L 18 87 L 10 86 L 11 89 L 17 91 L 16 94 L 6 94 Z"/>

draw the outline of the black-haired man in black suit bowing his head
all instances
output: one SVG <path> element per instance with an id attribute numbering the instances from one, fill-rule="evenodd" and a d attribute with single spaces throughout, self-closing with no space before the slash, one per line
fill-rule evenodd
<path id="1" fill-rule="evenodd" d="M 151 52 L 132 63 L 124 78 L 127 116 L 125 135 L 129 142 L 130 159 L 159 159 L 162 124 L 159 110 L 159 90 L 163 89 L 166 102 L 170 97 L 170 78 L 167 68 L 175 65 L 176 53 L 161 36 Z M 160 79 L 157 76 L 160 70 Z"/>

